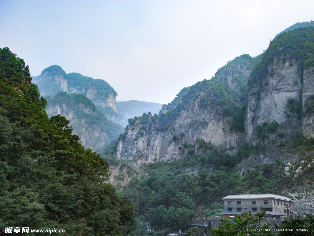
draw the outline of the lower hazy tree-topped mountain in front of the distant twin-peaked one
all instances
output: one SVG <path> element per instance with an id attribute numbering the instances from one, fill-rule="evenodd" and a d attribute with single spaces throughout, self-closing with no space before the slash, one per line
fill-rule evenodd
<path id="1" fill-rule="evenodd" d="M 58 92 L 54 97 L 47 96 L 46 108 L 49 117 L 65 116 L 73 127 L 73 133 L 81 138 L 85 148 L 103 152 L 112 140 L 124 132 L 124 128 L 109 121 L 92 101 L 82 94 Z"/>

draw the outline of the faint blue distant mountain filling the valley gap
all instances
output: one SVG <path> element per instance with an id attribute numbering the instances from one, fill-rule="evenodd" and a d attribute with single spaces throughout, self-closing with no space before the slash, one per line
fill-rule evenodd
<path id="1" fill-rule="evenodd" d="M 158 114 L 162 108 L 160 103 L 144 102 L 137 100 L 116 102 L 118 113 L 124 115 L 127 119 L 141 116 L 143 113 L 151 112 Z"/>

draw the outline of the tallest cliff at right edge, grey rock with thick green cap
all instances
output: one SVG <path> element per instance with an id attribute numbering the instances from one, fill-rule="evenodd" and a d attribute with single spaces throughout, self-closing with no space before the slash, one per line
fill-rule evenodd
<path id="1" fill-rule="evenodd" d="M 314 27 L 283 33 L 270 43 L 253 70 L 248 83 L 246 143 L 264 151 L 251 159 L 294 162 L 313 154 L 286 149 L 291 143 L 306 147 L 314 136 L 313 48 Z"/>

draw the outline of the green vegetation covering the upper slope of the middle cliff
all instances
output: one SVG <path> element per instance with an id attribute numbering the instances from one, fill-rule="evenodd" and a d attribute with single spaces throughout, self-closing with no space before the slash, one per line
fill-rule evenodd
<path id="1" fill-rule="evenodd" d="M 247 104 L 247 75 L 242 70 L 252 71 L 259 57 L 241 55 L 220 68 L 211 80 L 204 80 L 184 88 L 177 97 L 167 104 L 166 114 L 161 114 L 158 129 L 166 130 L 197 97 L 201 97 L 199 108 L 211 108 L 218 115 L 231 117 L 230 128 L 244 132 L 244 120 Z M 240 69 L 240 70 L 239 70 Z M 232 78 L 235 88 L 230 87 L 228 78 Z"/>

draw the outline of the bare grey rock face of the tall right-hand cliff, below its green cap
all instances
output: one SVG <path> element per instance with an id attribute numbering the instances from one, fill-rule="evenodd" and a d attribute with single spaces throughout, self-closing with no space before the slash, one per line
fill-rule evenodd
<path id="1" fill-rule="evenodd" d="M 257 142 L 258 125 L 273 121 L 278 122 L 280 132 L 287 138 L 295 134 L 306 138 L 314 135 L 313 114 L 306 111 L 306 101 L 314 94 L 314 68 L 300 71 L 300 63 L 287 58 L 287 55 L 275 58 L 268 66 L 267 74 L 249 88 L 246 113 L 248 143 Z"/>

